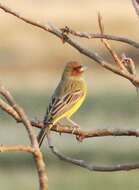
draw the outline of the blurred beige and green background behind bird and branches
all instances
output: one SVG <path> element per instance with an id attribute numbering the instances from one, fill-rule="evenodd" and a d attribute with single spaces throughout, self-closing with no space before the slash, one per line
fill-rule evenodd
<path id="1" fill-rule="evenodd" d="M 51 22 L 79 31 L 97 33 L 97 13 L 101 12 L 108 34 L 139 41 L 139 19 L 131 0 L 5 0 L 0 1 L 22 16 L 42 24 Z M 76 40 L 105 59 L 112 61 L 100 40 Z M 138 50 L 126 44 L 111 42 L 120 56 L 133 58 L 138 69 Z M 0 80 L 11 91 L 30 119 L 42 120 L 49 97 L 55 89 L 65 63 L 77 60 L 88 66 L 85 78 L 88 96 L 74 121 L 82 129 L 137 128 L 139 97 L 129 81 L 106 71 L 94 61 L 62 44 L 55 36 L 35 28 L 0 10 Z M 0 110 L 0 143 L 28 144 L 24 127 Z M 36 129 L 36 133 L 38 130 Z M 66 155 L 86 159 L 94 164 L 134 163 L 139 161 L 139 141 L 134 137 L 104 137 L 78 143 L 71 135 L 53 134 L 57 148 Z M 46 150 L 51 190 L 137 190 L 138 171 L 98 173 L 64 163 Z M 37 189 L 38 180 L 33 159 L 23 153 L 0 154 L 0 189 Z"/>

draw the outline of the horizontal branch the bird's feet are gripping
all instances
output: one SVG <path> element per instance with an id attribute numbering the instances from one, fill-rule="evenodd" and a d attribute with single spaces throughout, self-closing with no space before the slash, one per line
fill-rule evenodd
<path id="1" fill-rule="evenodd" d="M 6 111 L 6 113 L 10 114 L 17 122 L 21 122 L 21 119 L 17 112 L 6 102 L 2 101 L 0 99 L 0 107 Z M 41 121 L 35 122 L 35 121 L 30 121 L 30 124 L 33 127 L 36 128 L 43 128 L 44 124 Z M 73 128 L 69 125 L 62 125 L 62 124 L 57 124 L 54 125 L 53 128 L 51 129 L 54 132 L 57 133 L 66 133 L 66 134 L 72 134 L 75 136 L 80 136 L 82 138 L 92 138 L 92 137 L 104 137 L 104 136 L 139 136 L 139 130 L 138 129 L 117 129 L 117 128 L 112 128 L 112 129 L 93 129 L 91 131 L 84 131 L 81 129 L 74 130 L 73 133 Z"/>

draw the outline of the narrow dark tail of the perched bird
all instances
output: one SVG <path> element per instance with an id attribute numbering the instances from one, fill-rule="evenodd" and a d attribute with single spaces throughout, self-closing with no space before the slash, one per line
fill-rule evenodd
<path id="1" fill-rule="evenodd" d="M 46 135 L 50 132 L 52 124 L 50 123 L 45 123 L 45 127 L 43 127 L 40 131 L 40 133 L 37 136 L 38 144 L 39 147 L 42 145 L 43 139 L 45 138 Z"/>

